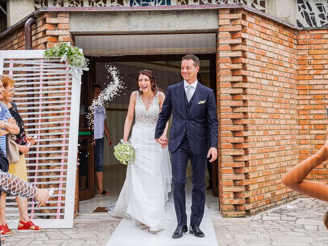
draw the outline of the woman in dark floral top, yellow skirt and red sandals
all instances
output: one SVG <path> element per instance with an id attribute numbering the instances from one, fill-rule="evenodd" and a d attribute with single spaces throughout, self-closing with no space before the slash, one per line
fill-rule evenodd
<path id="1" fill-rule="evenodd" d="M 5 91 L 3 93 L 2 101 L 8 108 L 10 115 L 14 117 L 17 125 L 19 127 L 19 131 L 15 132 L 16 134 L 16 144 L 18 145 L 19 150 L 19 161 L 18 163 L 9 163 L 8 173 L 11 173 L 24 181 L 27 181 L 27 169 L 26 169 L 26 161 L 24 154 L 28 153 L 30 147 L 27 146 L 29 142 L 30 146 L 34 144 L 35 140 L 32 137 L 29 137 L 25 133 L 24 129 L 24 121 L 20 117 L 17 111 L 16 105 L 13 103 L 13 96 L 15 94 L 14 83 L 15 81 L 8 76 L 3 76 L 1 78 Z M 20 231 L 40 231 L 42 228 L 35 226 L 33 222 L 30 220 L 27 209 L 27 198 L 16 196 L 16 202 L 18 204 L 19 209 L 19 223 L 18 230 Z M 8 228 L 5 217 L 6 211 L 6 194 L 3 194 L 0 199 L 0 230 L 3 231 L 3 236 L 11 236 L 12 231 Z"/>

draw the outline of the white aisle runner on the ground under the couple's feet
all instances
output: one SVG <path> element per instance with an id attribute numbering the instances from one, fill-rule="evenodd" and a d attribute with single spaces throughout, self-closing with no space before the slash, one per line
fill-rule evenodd
<path id="1" fill-rule="evenodd" d="M 139 227 L 134 225 L 131 219 L 123 218 L 106 246 L 218 246 L 210 212 L 206 206 L 204 217 L 200 224 L 200 229 L 205 234 L 205 237 L 198 238 L 188 232 L 183 234 L 182 238 L 173 239 L 172 233 L 177 226 L 177 222 L 174 204 L 171 200 L 172 198 L 165 204 L 166 230 L 159 231 L 157 234 L 152 234 L 149 233 L 147 229 L 140 230 Z M 187 215 L 189 223 L 190 204 L 187 204 Z"/>

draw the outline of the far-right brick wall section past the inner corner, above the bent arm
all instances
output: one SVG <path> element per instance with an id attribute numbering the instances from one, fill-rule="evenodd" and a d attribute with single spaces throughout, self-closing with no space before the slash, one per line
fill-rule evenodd
<path id="1" fill-rule="evenodd" d="M 328 93 L 328 30 L 299 31 L 297 35 L 299 159 L 317 152 L 325 142 Z M 308 176 L 327 180 L 327 165 Z"/>

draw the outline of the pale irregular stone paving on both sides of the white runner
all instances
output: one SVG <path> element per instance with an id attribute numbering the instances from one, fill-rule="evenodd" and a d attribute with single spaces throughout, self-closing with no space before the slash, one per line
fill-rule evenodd
<path id="1" fill-rule="evenodd" d="M 222 218 L 216 212 L 211 216 L 219 246 L 328 246 L 328 230 L 322 222 L 326 210 L 326 202 L 300 198 L 246 218 Z M 74 229 L 40 233 L 13 230 L 14 236 L 4 245 L 104 246 L 120 221 L 109 218 L 105 214 L 80 216 Z"/>

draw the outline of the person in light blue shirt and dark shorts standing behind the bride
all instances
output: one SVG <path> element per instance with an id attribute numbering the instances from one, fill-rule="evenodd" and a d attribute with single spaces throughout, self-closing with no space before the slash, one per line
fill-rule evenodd
<path id="1" fill-rule="evenodd" d="M 102 88 L 98 84 L 93 85 L 93 98 L 97 99 Z M 93 121 L 93 145 L 94 145 L 94 172 L 98 190 L 96 194 L 109 196 L 110 193 L 103 188 L 104 178 L 104 134 L 107 138 L 108 146 L 112 146 L 112 139 L 109 134 L 106 122 L 106 108 L 104 105 L 97 106 L 94 111 Z"/>

